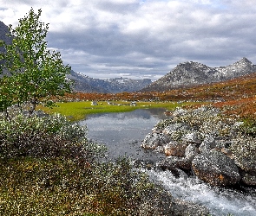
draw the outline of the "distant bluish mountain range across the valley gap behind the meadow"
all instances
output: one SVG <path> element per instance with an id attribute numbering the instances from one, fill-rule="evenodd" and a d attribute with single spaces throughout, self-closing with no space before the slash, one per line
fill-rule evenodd
<path id="1" fill-rule="evenodd" d="M 152 83 L 151 79 L 94 79 L 73 70 L 70 71 L 68 78 L 74 80 L 75 92 L 136 92 Z"/>

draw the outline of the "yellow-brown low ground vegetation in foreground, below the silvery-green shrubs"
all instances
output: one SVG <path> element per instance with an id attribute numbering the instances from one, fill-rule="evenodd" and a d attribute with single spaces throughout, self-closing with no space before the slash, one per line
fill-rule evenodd
<path id="1" fill-rule="evenodd" d="M 86 166 L 72 160 L 1 159 L 0 215 L 166 215 L 154 214 L 159 200 L 150 203 L 164 192 L 130 166 L 124 158 Z M 153 213 L 141 214 L 147 202 Z"/>

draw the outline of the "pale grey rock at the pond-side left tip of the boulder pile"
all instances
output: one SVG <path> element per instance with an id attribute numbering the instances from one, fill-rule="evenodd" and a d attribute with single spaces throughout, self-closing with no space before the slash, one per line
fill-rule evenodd
<path id="1" fill-rule="evenodd" d="M 170 137 L 163 134 L 149 133 L 141 143 L 145 149 L 155 149 L 158 146 L 164 146 L 170 142 Z"/>

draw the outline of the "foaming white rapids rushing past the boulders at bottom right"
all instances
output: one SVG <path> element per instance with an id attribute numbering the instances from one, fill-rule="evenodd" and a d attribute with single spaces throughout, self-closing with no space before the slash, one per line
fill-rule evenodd
<path id="1" fill-rule="evenodd" d="M 210 187 L 196 177 L 182 175 L 182 172 L 180 178 L 175 178 L 168 171 L 148 170 L 147 172 L 152 180 L 160 182 L 174 198 L 207 206 L 212 215 L 256 215 L 255 189 L 251 193 L 242 193 L 233 189 Z"/>

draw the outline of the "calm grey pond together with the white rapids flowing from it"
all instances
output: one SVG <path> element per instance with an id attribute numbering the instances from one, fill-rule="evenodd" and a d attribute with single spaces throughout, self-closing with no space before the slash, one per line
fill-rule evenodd
<path id="1" fill-rule="evenodd" d="M 89 115 L 80 124 L 87 124 L 89 139 L 104 143 L 111 158 L 129 156 L 133 159 L 156 161 L 164 156 L 141 149 L 141 141 L 154 124 L 165 118 L 162 109 L 136 110 L 121 113 Z M 148 170 L 154 181 L 161 182 L 175 198 L 191 200 L 207 206 L 212 215 L 256 216 L 255 188 L 210 187 L 196 177 L 175 178 L 167 171 Z"/>

